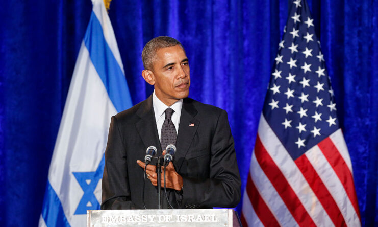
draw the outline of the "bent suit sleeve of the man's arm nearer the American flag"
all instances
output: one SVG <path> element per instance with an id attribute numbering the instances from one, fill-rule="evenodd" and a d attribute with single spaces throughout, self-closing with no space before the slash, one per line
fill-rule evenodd
<path id="1" fill-rule="evenodd" d="M 211 142 L 210 178 L 183 177 L 181 208 L 236 207 L 241 180 L 234 139 L 226 111 L 222 110 Z"/>

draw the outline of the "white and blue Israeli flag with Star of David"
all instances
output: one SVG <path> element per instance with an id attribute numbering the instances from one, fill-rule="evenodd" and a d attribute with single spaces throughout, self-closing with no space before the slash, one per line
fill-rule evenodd
<path id="1" fill-rule="evenodd" d="M 48 171 L 39 226 L 86 226 L 86 211 L 100 208 L 110 119 L 132 106 L 104 2 L 92 3 Z"/>

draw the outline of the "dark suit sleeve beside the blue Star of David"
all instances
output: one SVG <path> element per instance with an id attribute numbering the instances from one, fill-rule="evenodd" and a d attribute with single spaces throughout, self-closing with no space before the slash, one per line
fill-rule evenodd
<path id="1" fill-rule="evenodd" d="M 109 128 L 102 188 L 101 209 L 135 209 L 130 197 L 126 152 L 115 116 Z"/>

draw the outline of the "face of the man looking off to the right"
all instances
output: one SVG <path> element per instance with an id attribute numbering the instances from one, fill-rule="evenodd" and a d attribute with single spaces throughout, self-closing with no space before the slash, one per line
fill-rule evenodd
<path id="1" fill-rule="evenodd" d="M 153 79 L 156 96 L 170 106 L 188 97 L 190 69 L 188 58 L 180 45 L 161 48 L 153 63 Z"/>

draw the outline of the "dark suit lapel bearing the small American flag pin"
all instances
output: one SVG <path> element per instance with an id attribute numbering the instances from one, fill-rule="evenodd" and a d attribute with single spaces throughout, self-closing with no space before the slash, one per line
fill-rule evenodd
<path id="1" fill-rule="evenodd" d="M 199 121 L 194 118 L 197 110 L 193 106 L 192 99 L 184 99 L 183 107 L 181 110 L 179 133 L 177 135 L 176 147 L 177 153 L 175 154 L 173 163 L 177 167 L 176 171 L 179 172 L 184 158 L 188 153 L 190 144 L 197 131 Z"/>

